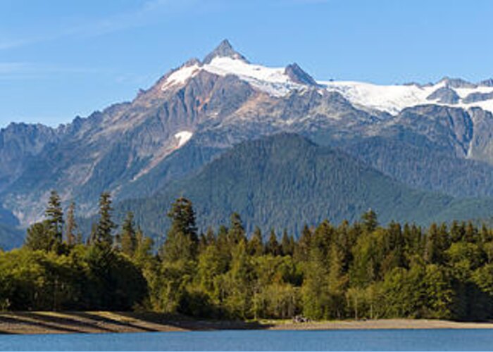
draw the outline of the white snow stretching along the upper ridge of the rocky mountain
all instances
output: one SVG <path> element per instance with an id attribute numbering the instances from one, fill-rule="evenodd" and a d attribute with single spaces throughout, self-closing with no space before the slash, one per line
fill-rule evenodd
<path id="1" fill-rule="evenodd" d="M 253 87 L 271 96 L 285 96 L 294 89 L 309 89 L 304 84 L 293 82 L 285 74 L 285 68 L 268 68 L 263 65 L 247 63 L 239 58 L 229 56 L 216 56 L 211 63 L 201 64 L 192 63 L 184 65 L 182 68 L 175 70 L 163 83 L 161 89 L 164 91 L 171 87 L 181 86 L 194 77 L 201 70 L 205 70 L 215 75 L 236 75 L 240 79 L 249 82 Z M 439 103 L 437 100 L 428 100 L 437 89 L 445 87 L 446 82 L 443 80 L 437 84 L 420 86 L 418 84 L 394 84 L 380 85 L 366 82 L 353 81 L 319 81 L 329 92 L 339 92 L 355 106 L 364 106 L 368 108 L 385 111 L 396 115 L 404 108 L 423 104 L 449 105 L 458 108 L 472 108 L 478 106 L 484 110 L 493 112 L 493 99 L 487 101 L 478 101 L 476 103 L 463 103 L 459 101 L 456 104 Z M 466 98 L 471 93 L 490 93 L 493 87 L 479 86 L 476 88 L 451 88 L 458 94 L 460 99 Z M 181 133 L 181 132 L 180 132 Z"/>

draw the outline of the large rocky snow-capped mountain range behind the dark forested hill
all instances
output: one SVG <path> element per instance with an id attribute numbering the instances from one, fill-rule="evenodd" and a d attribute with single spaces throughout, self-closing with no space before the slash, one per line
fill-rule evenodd
<path id="1" fill-rule="evenodd" d="M 492 196 L 492 92 L 489 80 L 318 81 L 295 63 L 250 63 L 223 41 L 132 101 L 57 128 L 1 129 L 0 205 L 15 218 L 9 226 L 24 228 L 57 189 L 64 205 L 75 200 L 79 215 L 91 216 L 102 191 L 116 203 L 153 196 L 232 146 L 280 132 L 342 150 L 413 188 Z"/>

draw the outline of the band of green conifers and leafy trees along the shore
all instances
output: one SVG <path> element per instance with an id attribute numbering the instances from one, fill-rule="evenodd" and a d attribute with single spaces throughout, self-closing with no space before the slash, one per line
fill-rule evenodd
<path id="1" fill-rule="evenodd" d="M 180 198 L 153 248 L 132 213 L 120 227 L 102 194 L 99 221 L 82 241 L 71 205 L 56 192 L 25 246 L 0 254 L 0 308 L 154 310 L 202 318 L 493 318 L 493 231 L 472 222 L 380 226 L 369 210 L 354 224 L 199 233 Z"/>

